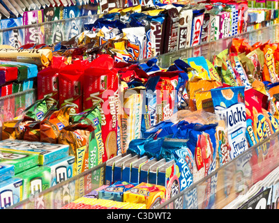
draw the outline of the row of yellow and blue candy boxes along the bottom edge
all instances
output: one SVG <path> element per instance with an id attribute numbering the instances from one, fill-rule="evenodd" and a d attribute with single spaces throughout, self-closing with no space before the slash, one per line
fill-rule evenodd
<path id="1" fill-rule="evenodd" d="M 117 181 L 103 185 L 62 209 L 153 209 L 165 201 L 165 187 Z"/>

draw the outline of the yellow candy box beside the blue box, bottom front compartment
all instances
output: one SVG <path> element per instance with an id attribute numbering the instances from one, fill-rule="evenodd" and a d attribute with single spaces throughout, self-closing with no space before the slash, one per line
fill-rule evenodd
<path id="1" fill-rule="evenodd" d="M 146 209 L 153 209 L 165 201 L 164 186 L 140 183 L 123 193 L 124 202 L 145 203 Z"/>

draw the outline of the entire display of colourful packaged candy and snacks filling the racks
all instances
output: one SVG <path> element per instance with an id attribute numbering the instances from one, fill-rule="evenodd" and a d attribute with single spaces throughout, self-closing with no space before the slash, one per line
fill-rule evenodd
<path id="1" fill-rule="evenodd" d="M 0 181 L 20 176 L 20 200 L 63 185 L 22 208 L 152 209 L 204 178 L 197 207 L 220 208 L 269 174 L 278 38 L 252 44 L 261 30 L 246 31 L 276 29 L 278 8 L 22 3 L 12 10 L 4 3 L 0 13 L 18 17 L 0 17 L 9 28 L 0 30 Z M 105 14 L 80 18 L 98 13 Z M 21 94 L 29 90 L 35 101 Z M 221 173 L 229 163 L 232 175 Z M 189 205 L 186 194 L 175 202 L 169 208 Z"/>

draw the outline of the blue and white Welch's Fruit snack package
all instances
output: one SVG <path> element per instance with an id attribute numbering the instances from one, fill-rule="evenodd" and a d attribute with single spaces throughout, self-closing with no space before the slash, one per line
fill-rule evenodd
<path id="1" fill-rule="evenodd" d="M 233 159 L 248 148 L 244 86 L 212 89 L 211 95 L 215 113 L 226 121 L 231 148 L 229 155 Z"/>

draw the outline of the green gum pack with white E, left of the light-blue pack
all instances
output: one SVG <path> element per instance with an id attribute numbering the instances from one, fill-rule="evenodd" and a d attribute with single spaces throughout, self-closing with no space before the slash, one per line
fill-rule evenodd
<path id="1" fill-rule="evenodd" d="M 50 167 L 33 167 L 27 171 L 23 171 L 16 175 L 17 178 L 22 178 L 22 199 L 35 197 L 37 193 L 50 188 Z"/>

